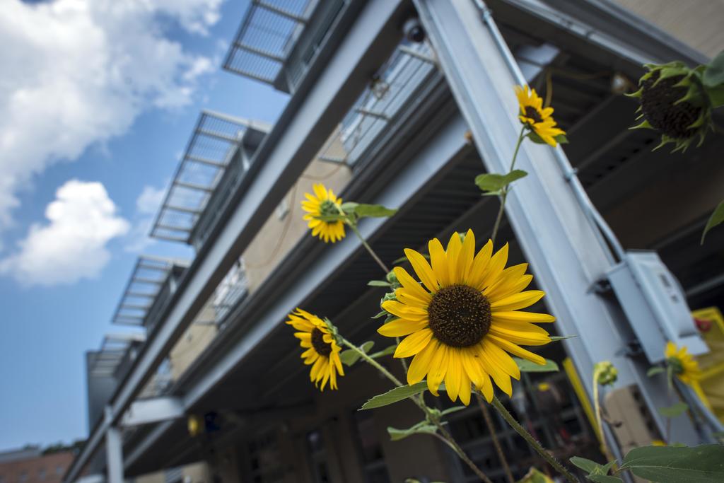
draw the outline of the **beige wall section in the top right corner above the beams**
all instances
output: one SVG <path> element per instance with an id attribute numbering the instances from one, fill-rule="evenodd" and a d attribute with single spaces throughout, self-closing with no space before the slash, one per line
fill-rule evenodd
<path id="1" fill-rule="evenodd" d="M 724 0 L 614 0 L 713 57 L 724 49 Z"/>

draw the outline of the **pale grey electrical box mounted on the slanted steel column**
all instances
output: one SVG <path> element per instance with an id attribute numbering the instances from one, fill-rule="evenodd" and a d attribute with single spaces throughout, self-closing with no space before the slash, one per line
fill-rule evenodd
<path id="1" fill-rule="evenodd" d="M 686 346 L 694 355 L 709 352 L 696 329 L 681 285 L 658 253 L 626 252 L 625 259 L 607 275 L 650 362 L 665 359 L 664 348 L 669 340 L 679 347 Z"/>

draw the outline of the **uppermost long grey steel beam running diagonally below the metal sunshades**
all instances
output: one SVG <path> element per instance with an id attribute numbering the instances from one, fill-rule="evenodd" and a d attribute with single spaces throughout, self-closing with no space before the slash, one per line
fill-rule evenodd
<path id="1" fill-rule="evenodd" d="M 357 1 L 357 0 L 355 0 Z M 286 196 L 313 159 L 324 140 L 366 86 L 366 73 L 374 72 L 390 55 L 400 38 L 402 0 L 369 0 L 363 3 L 354 25 L 340 42 L 327 45 L 325 64 L 311 64 L 274 130 L 256 151 L 256 179 L 235 193 L 221 222 L 209 235 L 214 243 L 203 245 L 180 283 L 169 309 L 155 333 L 141 349 L 129 374 L 111 398 L 114 420 L 119 419 L 143 385 L 153 375 L 174 343 L 193 322 L 229 269 L 243 253 L 279 201 Z M 156 238 L 171 238 L 160 237 Z M 73 461 L 65 482 L 73 482 L 98 449 L 108 426 L 93 429 L 88 442 Z"/>

